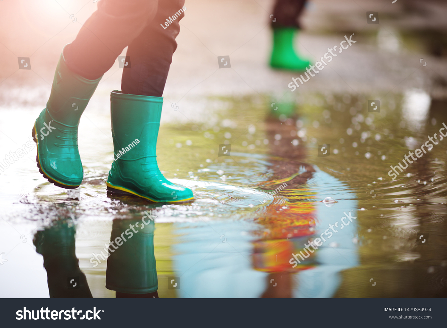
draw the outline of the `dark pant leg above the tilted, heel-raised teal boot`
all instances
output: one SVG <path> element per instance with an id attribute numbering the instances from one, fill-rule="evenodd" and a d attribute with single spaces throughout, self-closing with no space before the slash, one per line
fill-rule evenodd
<path id="1" fill-rule="evenodd" d="M 157 5 L 158 0 L 99 1 L 98 10 L 64 50 L 67 66 L 89 80 L 102 76 L 155 17 Z"/>

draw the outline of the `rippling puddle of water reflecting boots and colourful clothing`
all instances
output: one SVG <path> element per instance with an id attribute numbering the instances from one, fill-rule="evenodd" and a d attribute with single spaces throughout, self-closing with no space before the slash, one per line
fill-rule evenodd
<path id="1" fill-rule="evenodd" d="M 367 111 L 368 99 L 380 99 L 380 113 Z M 193 202 L 148 204 L 108 194 L 113 147 L 101 113 L 89 115 L 101 130 L 81 121 L 79 195 L 46 182 L 34 153 L 11 164 L 0 176 L 0 253 L 8 260 L 0 280 L 10 282 L 2 296 L 48 297 L 78 277 L 81 288 L 70 293 L 114 297 L 106 279 L 124 274 L 120 267 L 132 268 L 135 279 L 147 274 L 141 267 L 154 270 L 152 252 L 160 297 L 445 296 L 447 141 L 396 181 L 388 176 L 409 149 L 439 134 L 444 102 L 417 90 L 383 98 L 314 94 L 296 101 L 298 116 L 291 118 L 265 118 L 270 102 L 259 98 L 219 103 L 213 120 L 160 130 L 160 169 L 193 189 Z M 1 114 L 32 121 L 35 110 L 25 112 Z M 0 130 L 11 138 L 2 153 L 29 132 L 5 122 Z M 219 157 L 225 143 L 231 156 Z M 317 156 L 322 144 L 330 144 L 330 156 Z M 337 202 L 321 202 L 327 197 Z M 114 255 L 120 265 L 109 271 L 106 260 L 95 265 L 92 257 L 105 252 L 111 234 L 141 222 L 145 211 L 155 225 L 141 227 L 152 230 L 117 251 L 132 256 Z"/>

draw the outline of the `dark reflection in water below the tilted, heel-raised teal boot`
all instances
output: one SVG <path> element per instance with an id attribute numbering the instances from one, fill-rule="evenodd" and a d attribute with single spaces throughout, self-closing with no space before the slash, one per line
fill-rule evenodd
<path id="1" fill-rule="evenodd" d="M 92 298 L 75 253 L 75 227 L 67 220 L 34 235 L 36 251 L 43 256 L 50 298 Z"/>

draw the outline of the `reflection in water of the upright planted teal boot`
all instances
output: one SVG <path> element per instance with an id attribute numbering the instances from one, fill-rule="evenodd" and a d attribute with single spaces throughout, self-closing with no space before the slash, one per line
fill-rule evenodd
<path id="1" fill-rule="evenodd" d="M 113 220 L 105 287 L 117 298 L 158 298 L 154 222 L 145 222 Z"/>

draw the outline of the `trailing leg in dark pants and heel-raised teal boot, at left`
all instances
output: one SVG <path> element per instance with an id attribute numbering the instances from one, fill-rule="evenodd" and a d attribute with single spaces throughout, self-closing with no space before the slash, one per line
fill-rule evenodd
<path id="1" fill-rule="evenodd" d="M 33 127 L 37 164 L 50 182 L 63 188 L 76 188 L 82 182 L 77 145 L 80 116 L 101 76 L 155 17 L 157 4 L 158 0 L 101 0 L 75 41 L 64 47 L 50 99 Z"/>

